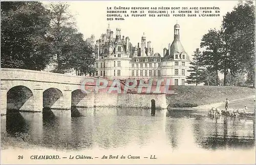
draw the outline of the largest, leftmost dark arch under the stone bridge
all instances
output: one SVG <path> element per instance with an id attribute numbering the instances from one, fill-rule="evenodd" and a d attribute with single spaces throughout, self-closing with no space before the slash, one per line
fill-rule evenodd
<path id="1" fill-rule="evenodd" d="M 14 86 L 7 91 L 7 109 L 33 109 L 33 99 L 33 92 L 30 88 L 23 85 Z"/>

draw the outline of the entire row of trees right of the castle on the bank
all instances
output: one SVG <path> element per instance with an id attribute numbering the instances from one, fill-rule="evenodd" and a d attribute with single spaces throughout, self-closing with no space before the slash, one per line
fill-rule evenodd
<path id="1" fill-rule="evenodd" d="M 252 1 L 240 1 L 223 17 L 220 30 L 210 29 L 203 35 L 200 47 L 204 51 L 194 52 L 188 83 L 218 85 L 222 73 L 224 85 L 247 83 L 255 87 L 254 12 Z"/>

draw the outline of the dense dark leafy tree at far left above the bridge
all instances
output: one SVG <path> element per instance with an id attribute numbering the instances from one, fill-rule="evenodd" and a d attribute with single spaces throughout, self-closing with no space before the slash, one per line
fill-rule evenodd
<path id="1" fill-rule="evenodd" d="M 1 3 L 1 65 L 41 70 L 51 59 L 50 12 L 39 2 Z"/>

